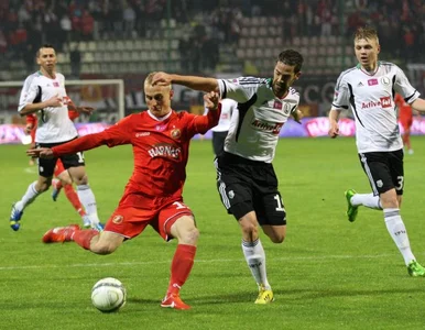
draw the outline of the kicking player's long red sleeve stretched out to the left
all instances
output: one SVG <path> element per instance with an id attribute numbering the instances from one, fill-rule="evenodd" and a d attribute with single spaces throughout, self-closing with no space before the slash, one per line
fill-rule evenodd
<path id="1" fill-rule="evenodd" d="M 77 152 L 95 148 L 99 145 L 109 147 L 131 143 L 133 114 L 126 117 L 113 127 L 100 133 L 88 134 L 68 143 L 52 147 L 55 157 L 75 154 Z"/>

